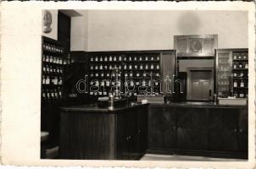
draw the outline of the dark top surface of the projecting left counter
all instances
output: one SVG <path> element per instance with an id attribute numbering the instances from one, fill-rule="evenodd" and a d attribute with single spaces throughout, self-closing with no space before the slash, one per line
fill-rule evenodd
<path id="1" fill-rule="evenodd" d="M 90 104 L 90 105 L 77 105 L 77 106 L 63 106 L 60 107 L 61 111 L 63 112 L 102 112 L 102 113 L 116 113 L 122 112 L 123 110 L 135 108 L 135 107 L 142 107 L 147 106 L 148 104 L 129 104 L 125 106 L 114 107 L 114 109 L 110 110 L 108 107 L 99 107 L 97 104 Z"/>

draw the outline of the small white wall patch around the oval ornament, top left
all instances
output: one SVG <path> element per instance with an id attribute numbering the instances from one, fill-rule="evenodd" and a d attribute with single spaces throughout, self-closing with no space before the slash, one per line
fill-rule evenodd
<path id="1" fill-rule="evenodd" d="M 52 38 L 53 40 L 58 39 L 58 10 L 48 10 L 52 14 L 52 31 L 50 33 L 43 33 L 43 10 L 42 10 L 42 35 Z"/>

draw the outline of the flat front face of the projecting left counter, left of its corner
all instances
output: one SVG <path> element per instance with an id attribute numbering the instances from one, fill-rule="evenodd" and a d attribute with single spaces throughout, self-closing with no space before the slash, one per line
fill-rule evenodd
<path id="1" fill-rule="evenodd" d="M 61 158 L 114 159 L 110 154 L 113 152 L 111 149 L 114 149 L 111 143 L 113 139 L 110 138 L 111 132 L 114 132 L 111 129 L 111 124 L 114 123 L 113 117 L 109 114 L 75 112 L 70 113 L 63 120 L 60 137 Z M 65 143 L 66 140 L 68 141 Z"/>

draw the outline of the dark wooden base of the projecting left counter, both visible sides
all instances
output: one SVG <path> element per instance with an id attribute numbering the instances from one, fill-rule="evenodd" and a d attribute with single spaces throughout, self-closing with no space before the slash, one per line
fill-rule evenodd
<path id="1" fill-rule="evenodd" d="M 61 112 L 60 159 L 135 160 L 146 151 L 147 105 L 77 110 Z"/>

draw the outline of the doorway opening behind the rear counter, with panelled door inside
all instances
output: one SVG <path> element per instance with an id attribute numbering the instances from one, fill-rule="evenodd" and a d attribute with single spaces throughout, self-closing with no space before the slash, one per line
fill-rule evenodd
<path id="1" fill-rule="evenodd" d="M 187 100 L 212 101 L 214 70 L 212 68 L 188 68 Z"/>

